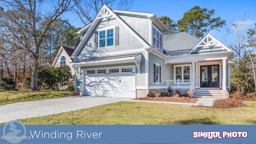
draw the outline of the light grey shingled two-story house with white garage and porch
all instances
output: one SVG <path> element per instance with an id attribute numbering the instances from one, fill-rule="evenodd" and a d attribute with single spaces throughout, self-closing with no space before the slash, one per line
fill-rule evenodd
<path id="1" fill-rule="evenodd" d="M 171 86 L 226 97 L 232 50 L 210 34 L 199 40 L 186 32 L 163 35 L 166 30 L 155 14 L 104 5 L 78 31 L 81 41 L 70 63 L 77 93 L 138 98 Z"/>

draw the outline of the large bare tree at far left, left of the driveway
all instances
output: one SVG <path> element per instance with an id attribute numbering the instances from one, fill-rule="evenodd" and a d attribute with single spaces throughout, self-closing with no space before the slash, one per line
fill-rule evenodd
<path id="1" fill-rule="evenodd" d="M 40 48 L 53 22 L 70 10 L 70 0 L 1 0 L 4 7 L 0 15 L 1 41 L 12 50 L 30 52 L 32 60 L 31 90 L 38 90 L 38 64 Z M 50 5 L 47 10 L 43 6 Z M 3 39 L 4 38 L 4 39 Z"/>

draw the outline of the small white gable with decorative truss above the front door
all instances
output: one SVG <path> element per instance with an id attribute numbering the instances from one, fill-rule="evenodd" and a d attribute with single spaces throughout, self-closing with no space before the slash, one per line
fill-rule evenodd
<path id="1" fill-rule="evenodd" d="M 201 53 L 201 52 L 213 52 L 213 51 L 232 51 L 224 44 L 222 44 L 219 40 L 214 38 L 209 33 L 202 38 L 196 44 L 196 46 L 190 50 L 188 54 Z"/>

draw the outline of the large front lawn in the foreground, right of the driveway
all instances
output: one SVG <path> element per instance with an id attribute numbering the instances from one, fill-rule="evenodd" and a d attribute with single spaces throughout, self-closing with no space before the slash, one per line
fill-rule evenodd
<path id="1" fill-rule="evenodd" d="M 148 102 L 117 102 L 28 118 L 23 124 L 256 124 L 256 102 L 246 108 L 200 108 Z"/>

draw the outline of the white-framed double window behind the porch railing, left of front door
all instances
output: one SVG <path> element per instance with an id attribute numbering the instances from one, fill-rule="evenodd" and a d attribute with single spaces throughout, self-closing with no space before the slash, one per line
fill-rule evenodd
<path id="1" fill-rule="evenodd" d="M 191 65 L 174 66 L 175 80 L 190 80 L 190 67 Z"/>

